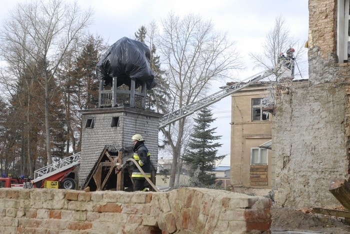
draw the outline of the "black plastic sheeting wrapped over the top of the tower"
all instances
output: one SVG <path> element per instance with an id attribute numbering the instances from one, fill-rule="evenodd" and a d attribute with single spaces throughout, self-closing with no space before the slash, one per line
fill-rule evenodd
<path id="1" fill-rule="evenodd" d="M 112 84 L 112 78 L 116 76 L 117 87 L 122 84 L 130 87 L 131 79 L 135 79 L 136 87 L 145 81 L 146 88 L 151 89 L 156 82 L 149 62 L 150 49 L 146 44 L 122 37 L 101 56 L 96 65 L 96 74 L 100 80 L 104 80 L 104 86 Z"/>

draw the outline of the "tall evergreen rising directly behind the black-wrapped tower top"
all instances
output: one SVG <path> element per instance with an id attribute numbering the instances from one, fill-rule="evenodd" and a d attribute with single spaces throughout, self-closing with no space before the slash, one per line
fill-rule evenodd
<path id="1" fill-rule="evenodd" d="M 145 26 L 141 26 L 137 32 L 135 32 L 135 38 L 143 43 L 147 35 Z M 152 38 L 150 38 L 152 41 Z M 170 94 L 168 92 L 169 84 L 162 77 L 164 71 L 160 69 L 160 57 L 156 55 L 156 47 L 152 42 L 149 42 L 150 47 L 150 68 L 154 73 L 154 78 L 157 85 L 151 90 L 147 90 L 146 94 L 146 110 L 156 111 L 159 113 L 167 113 L 167 105 Z"/>

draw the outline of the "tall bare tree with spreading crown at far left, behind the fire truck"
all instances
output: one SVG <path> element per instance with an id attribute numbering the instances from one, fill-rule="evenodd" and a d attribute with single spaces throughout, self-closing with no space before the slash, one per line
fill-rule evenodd
<path id="1" fill-rule="evenodd" d="M 90 23 L 91 10 L 82 11 L 76 2 L 64 3 L 62 0 L 39 0 L 19 3 L 10 12 L 1 31 L 1 50 L 4 59 L 11 61 L 11 53 L 6 48 L 17 47 L 26 56 L 22 63 L 31 68 L 34 62 L 43 79 L 37 79 L 44 90 L 45 134 L 47 163 L 52 163 L 49 125 L 49 103 L 54 90 L 49 83 L 67 55 L 67 51 L 80 33 Z M 6 51 L 6 52 L 4 52 Z M 32 74 L 36 72 L 30 70 Z M 41 81 L 42 80 L 42 81 Z"/>

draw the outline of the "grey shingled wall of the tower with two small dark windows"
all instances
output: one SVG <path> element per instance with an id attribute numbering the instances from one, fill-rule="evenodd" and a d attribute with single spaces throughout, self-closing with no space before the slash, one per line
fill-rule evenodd
<path id="1" fill-rule="evenodd" d="M 158 126 L 161 114 L 136 108 L 115 107 L 80 110 L 82 114 L 81 162 L 79 187 L 93 169 L 103 149 L 109 152 L 121 151 L 132 157 L 131 137 L 141 134 L 151 152 L 150 161 L 156 169 L 158 162 Z M 111 127 L 112 118 L 118 118 L 116 127 Z M 86 128 L 86 120 L 93 119 L 93 127 Z M 117 155 L 117 154 L 116 154 Z"/>

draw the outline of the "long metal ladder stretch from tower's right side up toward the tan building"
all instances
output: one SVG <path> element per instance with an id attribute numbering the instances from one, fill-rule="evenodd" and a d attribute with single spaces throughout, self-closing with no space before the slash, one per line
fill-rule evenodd
<path id="1" fill-rule="evenodd" d="M 236 83 L 229 85 L 229 86 L 221 89 L 220 91 L 218 91 L 214 94 L 211 94 L 207 97 L 204 97 L 203 99 L 201 99 L 199 101 L 193 102 L 187 106 L 181 107 L 178 110 L 170 112 L 170 113 L 168 113 L 160 118 L 158 129 L 162 129 L 166 125 L 173 123 L 176 120 L 179 120 L 183 117 L 191 115 L 195 111 L 197 111 L 203 107 L 209 106 L 209 105 L 221 100 L 222 98 L 231 95 L 234 92 L 237 92 L 237 91 L 239 91 L 239 90 L 241 90 L 241 89 L 243 89 L 243 88 L 259 81 L 259 80 L 262 80 L 263 78 L 266 78 L 267 76 L 269 76 L 271 74 L 273 74 L 273 73 L 270 70 L 261 71 L 255 75 L 252 75 L 252 76 L 246 78 L 245 80 L 237 81 Z"/>

